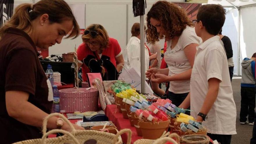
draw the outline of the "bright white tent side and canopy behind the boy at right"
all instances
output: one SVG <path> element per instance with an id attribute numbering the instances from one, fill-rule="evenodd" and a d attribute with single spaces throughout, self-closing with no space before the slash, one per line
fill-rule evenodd
<path id="1" fill-rule="evenodd" d="M 231 1 L 208 0 L 208 4 L 220 4 L 227 10 L 223 35 L 232 41 L 234 74 L 241 75 L 241 61 L 256 52 L 256 0 Z"/>

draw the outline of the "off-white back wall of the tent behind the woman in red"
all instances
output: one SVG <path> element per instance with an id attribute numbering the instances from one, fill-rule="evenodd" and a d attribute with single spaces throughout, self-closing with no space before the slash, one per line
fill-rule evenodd
<path id="1" fill-rule="evenodd" d="M 35 0 L 35 3 L 39 0 Z M 132 0 L 65 0 L 71 7 L 81 29 L 89 24 L 102 24 L 109 33 L 109 36 L 118 40 L 122 49 L 131 38 L 131 26 L 140 22 L 139 17 L 134 17 L 132 12 Z M 158 0 L 147 0 L 145 14 L 152 4 Z M 183 2 L 183 0 L 176 0 Z M 14 8 L 20 3 L 33 3 L 33 0 L 15 0 Z M 145 16 L 146 18 L 146 16 Z M 161 40 L 163 47 L 164 40 Z M 49 48 L 49 55 L 63 54 L 74 51 L 82 43 L 81 36 L 74 40 L 63 39 L 61 44 Z"/>

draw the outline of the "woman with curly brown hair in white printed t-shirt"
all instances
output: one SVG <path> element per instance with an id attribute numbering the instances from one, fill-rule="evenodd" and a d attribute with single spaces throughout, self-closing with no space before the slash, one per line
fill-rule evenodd
<path id="1" fill-rule="evenodd" d="M 168 98 L 179 106 L 190 91 L 190 76 L 200 40 L 185 11 L 168 1 L 158 1 L 152 6 L 147 13 L 147 27 L 151 38 L 166 39 L 164 59 L 168 68 L 151 68 L 146 75 L 153 82 L 170 81 Z"/>

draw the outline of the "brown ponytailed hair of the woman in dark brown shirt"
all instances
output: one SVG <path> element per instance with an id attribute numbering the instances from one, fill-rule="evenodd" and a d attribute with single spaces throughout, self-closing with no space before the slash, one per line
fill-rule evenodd
<path id="1" fill-rule="evenodd" d="M 79 25 L 72 10 L 64 0 L 41 0 L 34 5 L 24 3 L 17 6 L 11 19 L 0 28 L 0 39 L 9 28 L 30 32 L 33 27 L 32 21 L 43 14 L 49 15 L 50 23 L 62 23 L 65 20 L 72 20 L 72 32 L 66 38 L 76 38 L 79 36 Z"/>

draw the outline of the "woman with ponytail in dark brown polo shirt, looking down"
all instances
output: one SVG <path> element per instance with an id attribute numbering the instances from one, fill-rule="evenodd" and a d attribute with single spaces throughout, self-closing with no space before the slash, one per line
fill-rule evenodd
<path id="1" fill-rule="evenodd" d="M 20 4 L 0 28 L 1 143 L 42 137 L 40 127 L 51 112 L 53 94 L 36 46 L 48 49 L 61 43 L 64 36 L 78 35 L 77 21 L 63 0 Z M 70 131 L 70 126 L 57 117 L 49 119 L 47 128 Z"/>

